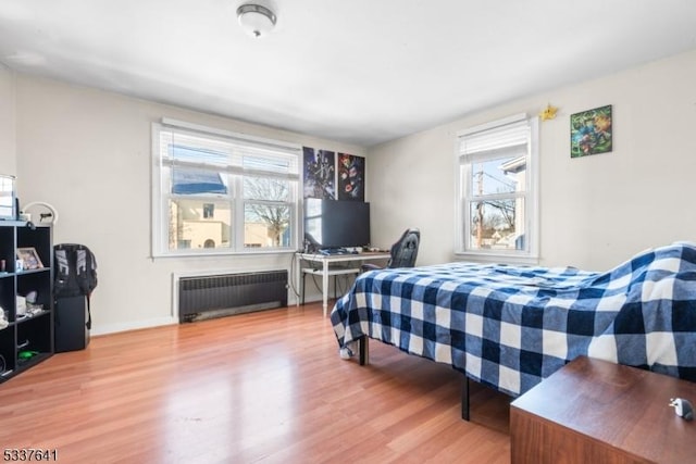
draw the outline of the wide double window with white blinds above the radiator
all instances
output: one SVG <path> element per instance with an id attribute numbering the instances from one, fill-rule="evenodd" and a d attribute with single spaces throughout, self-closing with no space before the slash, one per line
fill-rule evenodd
<path id="1" fill-rule="evenodd" d="M 152 139 L 153 255 L 297 249 L 299 146 L 171 120 Z"/>

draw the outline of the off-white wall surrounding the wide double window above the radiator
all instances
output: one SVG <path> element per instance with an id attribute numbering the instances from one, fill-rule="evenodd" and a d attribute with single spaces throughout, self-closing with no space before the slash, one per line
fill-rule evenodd
<path id="1" fill-rule="evenodd" d="M 97 256 L 92 334 L 172 323 L 173 273 L 290 266 L 288 253 L 150 259 L 152 122 L 167 116 L 364 155 L 360 147 L 26 75 L 16 76 L 15 100 L 21 202 L 54 205 L 54 242 L 84 243 Z"/>

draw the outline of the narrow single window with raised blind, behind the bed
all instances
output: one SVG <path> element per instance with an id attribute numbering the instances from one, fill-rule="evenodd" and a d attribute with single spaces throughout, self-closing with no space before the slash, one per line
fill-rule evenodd
<path id="1" fill-rule="evenodd" d="M 536 260 L 537 146 L 537 120 L 525 115 L 459 134 L 458 253 Z"/>

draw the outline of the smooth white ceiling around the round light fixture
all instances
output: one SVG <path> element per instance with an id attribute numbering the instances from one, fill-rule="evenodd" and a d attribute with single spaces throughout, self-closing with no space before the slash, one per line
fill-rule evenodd
<path id="1" fill-rule="evenodd" d="M 372 146 L 696 48 L 694 0 L 259 0 L 259 39 L 244 2 L 0 0 L 0 62 Z"/>

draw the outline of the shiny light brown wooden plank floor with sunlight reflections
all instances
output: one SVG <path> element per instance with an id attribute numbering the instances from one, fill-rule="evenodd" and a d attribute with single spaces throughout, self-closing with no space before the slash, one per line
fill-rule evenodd
<path id="1" fill-rule="evenodd" d="M 338 358 L 320 304 L 94 337 L 0 385 L 3 449 L 63 463 L 508 463 L 509 399 L 372 341 Z"/>

